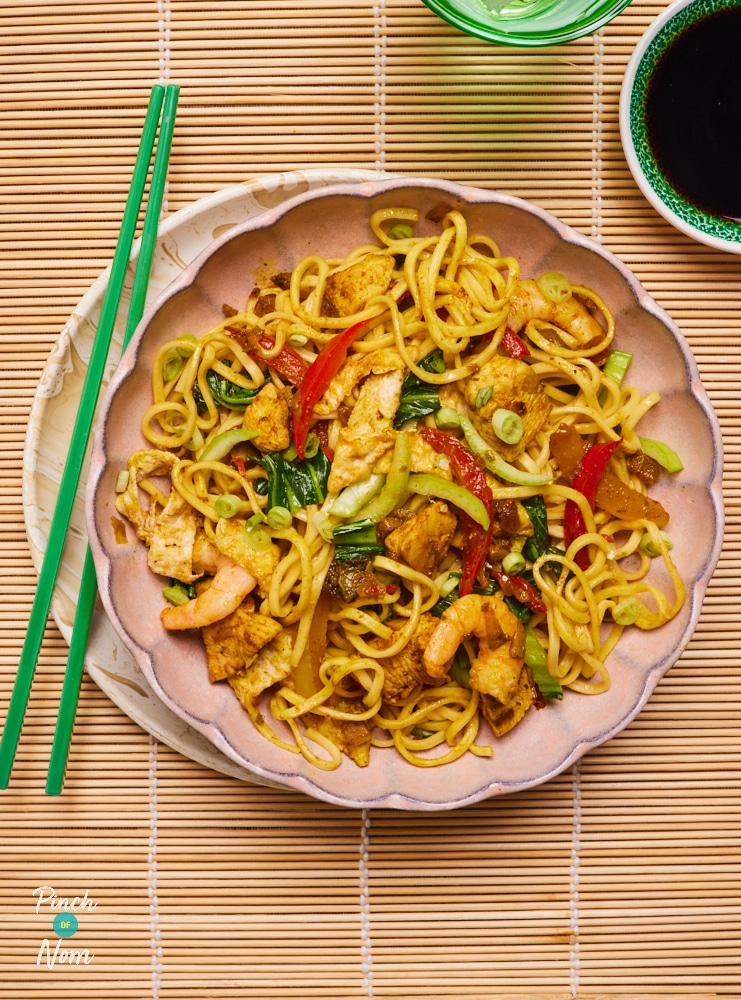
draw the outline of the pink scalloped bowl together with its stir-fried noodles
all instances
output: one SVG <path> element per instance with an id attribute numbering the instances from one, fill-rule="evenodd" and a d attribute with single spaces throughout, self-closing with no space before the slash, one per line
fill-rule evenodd
<path id="1" fill-rule="evenodd" d="M 215 239 L 111 379 L 99 589 L 162 703 L 258 780 L 452 808 L 640 711 L 722 537 L 681 333 L 526 202 L 385 178 Z"/>

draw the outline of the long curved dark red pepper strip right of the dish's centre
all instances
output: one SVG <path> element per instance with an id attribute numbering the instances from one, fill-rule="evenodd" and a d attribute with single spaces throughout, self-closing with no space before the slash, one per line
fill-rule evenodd
<path id="1" fill-rule="evenodd" d="M 458 438 L 453 437 L 452 434 L 446 434 L 445 431 L 435 430 L 433 427 L 422 426 L 419 431 L 435 451 L 448 456 L 453 468 L 453 475 L 458 483 L 481 500 L 489 515 L 489 527 L 483 528 L 468 514 L 461 512 L 460 523 L 466 539 L 466 548 L 463 552 L 458 593 L 461 597 L 465 597 L 466 594 L 471 593 L 476 577 L 481 571 L 491 547 L 491 536 L 494 530 L 494 497 L 483 469 L 479 468 L 474 455 Z"/>

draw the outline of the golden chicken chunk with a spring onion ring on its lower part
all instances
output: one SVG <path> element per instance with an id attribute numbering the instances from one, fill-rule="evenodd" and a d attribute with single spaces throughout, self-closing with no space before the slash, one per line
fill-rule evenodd
<path id="1" fill-rule="evenodd" d="M 491 389 L 490 398 L 477 409 L 476 397 L 482 389 Z M 468 380 L 465 390 L 471 422 L 496 451 L 513 461 L 532 441 L 551 411 L 551 403 L 540 379 L 525 361 L 495 355 Z M 512 410 L 523 424 L 523 435 L 516 444 L 507 445 L 494 433 L 491 418 L 495 410 Z"/>

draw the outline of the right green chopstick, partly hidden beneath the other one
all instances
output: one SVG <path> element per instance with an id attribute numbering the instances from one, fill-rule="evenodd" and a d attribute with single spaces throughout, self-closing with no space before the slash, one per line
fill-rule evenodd
<path id="1" fill-rule="evenodd" d="M 154 158 L 154 167 L 152 168 L 152 181 L 149 187 L 147 211 L 144 216 L 144 226 L 142 227 L 139 246 L 139 259 L 136 263 L 134 284 L 131 289 L 131 303 L 126 318 L 126 330 L 121 343 L 122 351 L 125 350 L 126 345 L 131 339 L 131 335 L 139 325 L 139 321 L 144 313 L 149 276 L 152 270 L 152 256 L 155 244 L 157 243 L 157 229 L 162 211 L 162 198 L 167 180 L 167 166 L 170 159 L 170 147 L 172 146 L 172 133 L 175 127 L 175 112 L 177 111 L 179 93 L 180 88 L 172 85 L 168 86 L 165 91 L 162 122 L 160 124 L 159 138 L 157 139 L 157 152 Z M 69 747 L 72 740 L 72 731 L 75 726 L 75 716 L 77 715 L 77 702 L 80 697 L 85 652 L 87 650 L 97 593 L 98 586 L 95 564 L 90 546 L 88 545 L 86 546 L 85 561 L 82 569 L 82 577 L 80 578 L 77 610 L 72 626 L 67 667 L 64 672 L 57 724 L 54 730 L 51 757 L 49 758 L 49 770 L 46 777 L 47 795 L 60 795 L 64 786 Z"/>

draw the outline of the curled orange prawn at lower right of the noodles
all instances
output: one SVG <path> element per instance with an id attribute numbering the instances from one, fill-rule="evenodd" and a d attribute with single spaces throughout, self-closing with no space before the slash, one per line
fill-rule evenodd
<path id="1" fill-rule="evenodd" d="M 478 639 L 471 663 L 471 687 L 506 704 L 517 691 L 525 662 L 525 630 L 501 597 L 467 594 L 440 617 L 424 653 L 431 677 L 443 678 L 456 650 L 468 636 Z"/>

